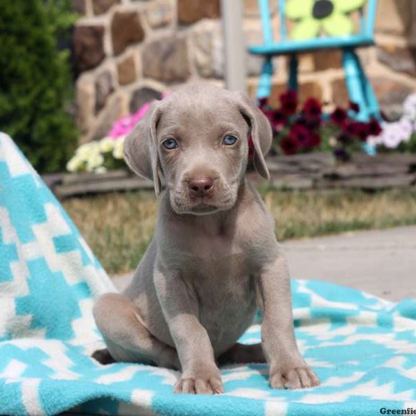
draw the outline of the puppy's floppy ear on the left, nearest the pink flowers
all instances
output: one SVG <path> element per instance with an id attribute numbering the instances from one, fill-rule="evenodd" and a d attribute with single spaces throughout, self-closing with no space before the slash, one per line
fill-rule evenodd
<path id="1" fill-rule="evenodd" d="M 160 101 L 153 101 L 143 119 L 137 123 L 124 141 L 124 159 L 137 175 L 153 180 L 155 193 L 162 189 L 159 156 L 157 153 L 156 125 L 162 114 Z"/>

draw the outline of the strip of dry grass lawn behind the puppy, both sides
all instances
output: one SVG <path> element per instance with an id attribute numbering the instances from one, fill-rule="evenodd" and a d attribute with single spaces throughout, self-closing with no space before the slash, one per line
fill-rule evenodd
<path id="1" fill-rule="evenodd" d="M 416 189 L 261 193 L 279 241 L 416 224 Z M 153 193 L 72 198 L 63 205 L 110 275 L 136 268 L 155 229 Z"/>

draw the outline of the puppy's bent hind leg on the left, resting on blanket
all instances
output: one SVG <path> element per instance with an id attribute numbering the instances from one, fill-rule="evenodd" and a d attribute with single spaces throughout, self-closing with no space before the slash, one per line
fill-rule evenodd
<path id="1" fill-rule="evenodd" d="M 99 350 L 93 354 L 93 358 L 101 363 L 100 358 L 109 361 L 111 357 L 114 361 L 127 363 L 180 367 L 176 350 L 148 331 L 128 297 L 106 293 L 94 304 L 93 313 L 107 345 L 107 352 Z"/>

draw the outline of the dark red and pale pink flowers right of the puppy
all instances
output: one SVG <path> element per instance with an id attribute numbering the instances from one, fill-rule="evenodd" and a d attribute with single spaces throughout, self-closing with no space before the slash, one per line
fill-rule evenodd
<path id="1" fill-rule="evenodd" d="M 278 108 L 271 108 L 266 100 L 259 103 L 273 128 L 272 153 L 294 155 L 331 151 L 342 162 L 361 150 L 370 155 L 416 153 L 416 94 L 406 99 L 404 115 L 393 123 L 385 119 L 356 121 L 360 111 L 356 103 L 324 114 L 320 101 L 309 98 L 300 105 L 293 91 L 281 94 L 279 102 Z"/>

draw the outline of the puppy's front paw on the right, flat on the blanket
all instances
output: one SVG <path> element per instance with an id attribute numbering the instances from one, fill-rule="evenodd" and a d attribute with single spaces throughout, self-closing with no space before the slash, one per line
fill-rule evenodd
<path id="1" fill-rule="evenodd" d="M 270 368 L 269 382 L 271 388 L 311 388 L 320 385 L 318 376 L 307 366 Z"/>

